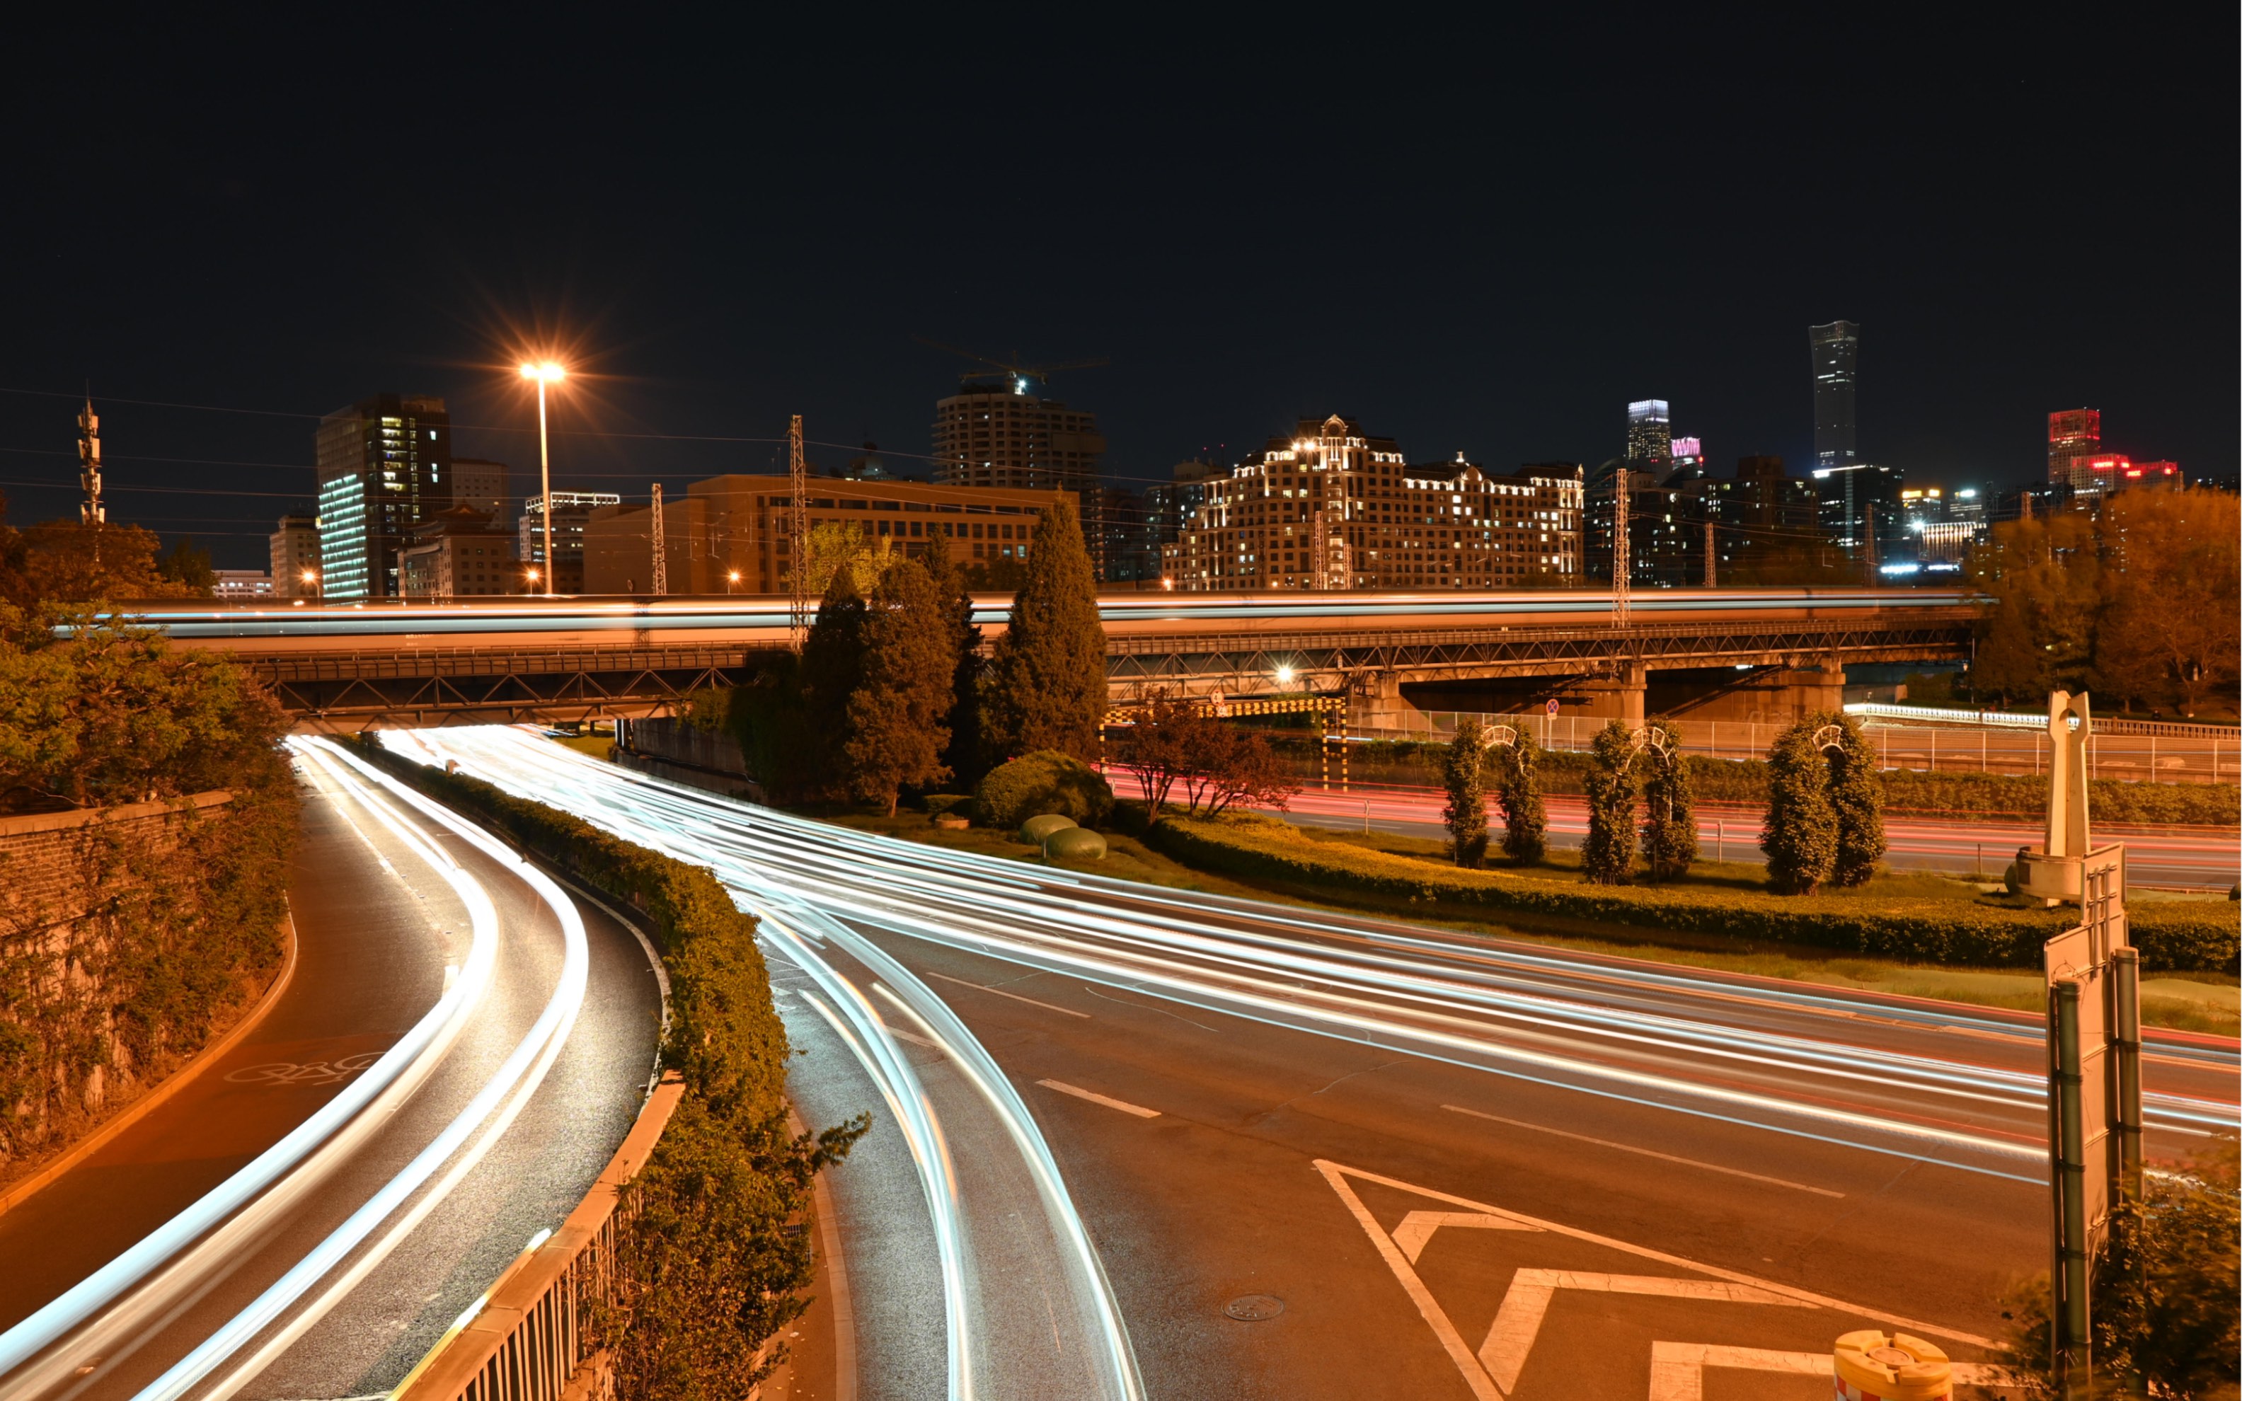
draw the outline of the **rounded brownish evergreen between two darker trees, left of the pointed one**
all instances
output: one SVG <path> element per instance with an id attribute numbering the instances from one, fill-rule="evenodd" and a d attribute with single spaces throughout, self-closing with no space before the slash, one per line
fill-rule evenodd
<path id="1" fill-rule="evenodd" d="M 955 614 L 917 560 L 890 567 L 863 623 L 863 679 L 847 699 L 845 755 L 850 789 L 883 802 L 895 816 L 904 785 L 948 778 L 942 746 L 951 731 L 951 681 L 957 675 Z"/>

